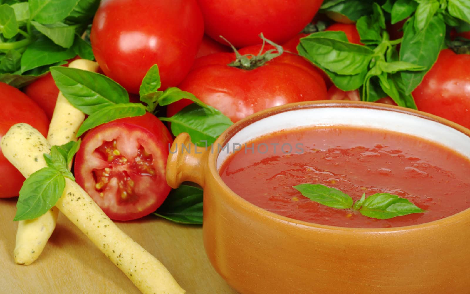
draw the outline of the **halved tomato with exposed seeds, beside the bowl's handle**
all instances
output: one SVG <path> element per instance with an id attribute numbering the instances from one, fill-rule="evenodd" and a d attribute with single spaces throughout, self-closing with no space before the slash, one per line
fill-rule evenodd
<path id="1" fill-rule="evenodd" d="M 171 188 L 165 168 L 172 136 L 150 113 L 90 130 L 75 158 L 77 183 L 113 220 L 154 212 Z"/>

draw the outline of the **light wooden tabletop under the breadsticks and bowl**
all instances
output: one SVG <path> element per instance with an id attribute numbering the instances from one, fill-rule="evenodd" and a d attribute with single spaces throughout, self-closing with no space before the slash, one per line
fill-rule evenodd
<path id="1" fill-rule="evenodd" d="M 39 259 L 13 261 L 16 199 L 0 199 L 0 292 L 8 294 L 140 293 L 132 282 L 63 215 Z M 157 257 L 188 294 L 235 294 L 207 259 L 201 226 L 148 216 L 119 228 Z"/>

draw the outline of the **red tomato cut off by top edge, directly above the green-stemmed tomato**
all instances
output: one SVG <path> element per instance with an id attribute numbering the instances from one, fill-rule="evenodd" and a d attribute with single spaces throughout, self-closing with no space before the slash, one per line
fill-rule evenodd
<path id="1" fill-rule="evenodd" d="M 258 35 L 281 44 L 310 23 L 323 0 L 197 0 L 204 15 L 205 32 L 236 48 L 260 44 Z"/>

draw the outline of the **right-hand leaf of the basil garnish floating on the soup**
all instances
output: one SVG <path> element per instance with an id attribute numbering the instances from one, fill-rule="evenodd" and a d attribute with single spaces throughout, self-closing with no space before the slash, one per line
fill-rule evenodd
<path id="1" fill-rule="evenodd" d="M 400 215 L 423 213 L 424 210 L 397 195 L 377 193 L 364 201 L 359 212 L 368 217 L 389 219 Z"/>

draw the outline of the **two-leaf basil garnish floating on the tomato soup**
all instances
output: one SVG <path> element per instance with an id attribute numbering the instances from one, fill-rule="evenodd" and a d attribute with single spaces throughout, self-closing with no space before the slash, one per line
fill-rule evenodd
<path id="1" fill-rule="evenodd" d="M 300 184 L 293 186 L 302 195 L 328 207 L 358 210 L 361 215 L 377 219 L 389 219 L 400 215 L 425 212 L 408 199 L 390 193 L 376 193 L 366 198 L 366 193 L 353 203 L 352 198 L 335 188 L 322 184 Z"/>

